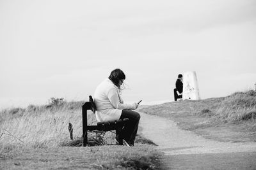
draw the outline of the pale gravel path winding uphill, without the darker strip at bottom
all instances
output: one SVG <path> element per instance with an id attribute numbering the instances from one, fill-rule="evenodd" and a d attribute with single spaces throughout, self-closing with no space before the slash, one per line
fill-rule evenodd
<path id="1" fill-rule="evenodd" d="M 256 152 L 256 143 L 224 143 L 179 129 L 170 119 L 141 113 L 141 134 L 156 143 L 165 155 Z"/>

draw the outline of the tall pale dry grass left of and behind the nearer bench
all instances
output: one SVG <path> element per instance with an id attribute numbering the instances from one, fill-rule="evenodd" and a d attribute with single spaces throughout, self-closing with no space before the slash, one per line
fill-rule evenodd
<path id="1" fill-rule="evenodd" d="M 70 102 L 2 110 L 0 142 L 60 146 L 63 141 L 70 141 L 69 123 L 73 125 L 74 138 L 81 138 L 82 105 L 83 102 Z M 95 116 L 92 111 L 88 111 L 88 123 L 93 122 L 95 123 Z"/>

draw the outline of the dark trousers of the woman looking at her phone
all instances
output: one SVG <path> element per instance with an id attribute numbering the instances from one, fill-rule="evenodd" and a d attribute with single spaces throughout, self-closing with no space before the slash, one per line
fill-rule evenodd
<path id="1" fill-rule="evenodd" d="M 133 110 L 122 110 L 120 119 L 129 118 L 129 121 L 121 129 L 116 129 L 116 139 L 122 145 L 122 139 L 133 146 L 140 122 L 140 114 Z"/>

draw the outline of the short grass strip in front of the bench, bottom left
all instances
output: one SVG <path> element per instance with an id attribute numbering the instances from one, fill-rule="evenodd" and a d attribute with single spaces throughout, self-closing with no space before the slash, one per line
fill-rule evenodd
<path id="1" fill-rule="evenodd" d="M 0 145 L 0 169 L 154 169 L 153 146 L 31 148 Z"/>

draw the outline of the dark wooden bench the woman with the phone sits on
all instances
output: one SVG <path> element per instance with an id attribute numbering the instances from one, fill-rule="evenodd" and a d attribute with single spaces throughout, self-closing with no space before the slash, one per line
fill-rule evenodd
<path id="1" fill-rule="evenodd" d="M 97 125 L 88 125 L 87 123 L 87 110 L 92 110 L 93 113 L 97 110 L 96 105 L 93 101 L 92 96 L 89 96 L 89 101 L 84 103 L 82 107 L 83 114 L 83 144 L 82 146 L 88 145 L 88 131 L 113 131 L 120 127 L 124 127 L 125 123 L 129 118 L 124 118 L 123 120 L 115 120 L 113 122 L 98 122 Z M 118 141 L 119 142 L 119 141 Z"/>

